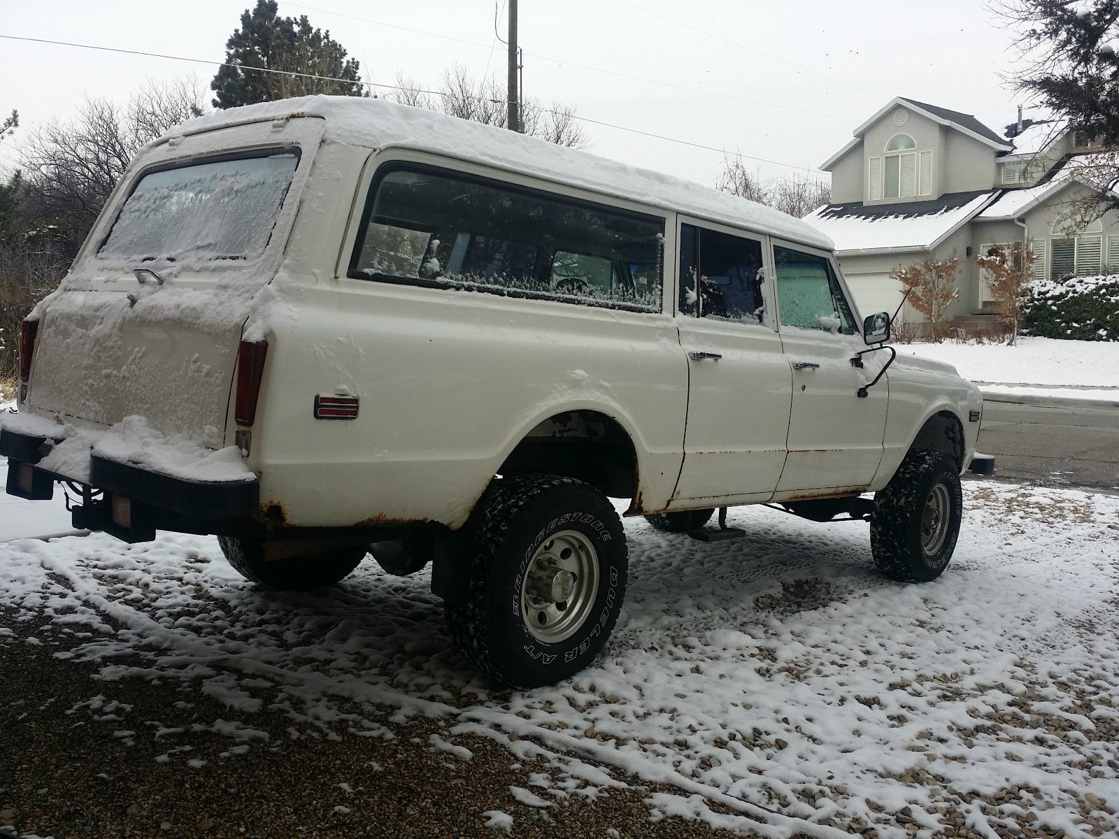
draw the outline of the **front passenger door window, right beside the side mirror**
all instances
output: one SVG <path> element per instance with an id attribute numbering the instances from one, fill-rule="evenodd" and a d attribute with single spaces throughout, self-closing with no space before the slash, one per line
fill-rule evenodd
<path id="1" fill-rule="evenodd" d="M 824 256 L 773 246 L 781 326 L 855 333 L 855 318 Z"/>

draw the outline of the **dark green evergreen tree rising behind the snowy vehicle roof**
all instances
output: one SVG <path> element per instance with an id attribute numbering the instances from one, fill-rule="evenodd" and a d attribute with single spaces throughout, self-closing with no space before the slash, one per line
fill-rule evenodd
<path id="1" fill-rule="evenodd" d="M 256 8 L 245 9 L 241 28 L 226 41 L 225 60 L 234 66 L 223 66 L 214 76 L 214 106 L 236 107 L 316 93 L 364 96 L 360 65 L 346 55 L 346 48 L 329 31 L 312 28 L 305 15 L 281 18 L 275 0 L 257 0 Z M 290 73 L 303 75 L 286 75 Z"/>

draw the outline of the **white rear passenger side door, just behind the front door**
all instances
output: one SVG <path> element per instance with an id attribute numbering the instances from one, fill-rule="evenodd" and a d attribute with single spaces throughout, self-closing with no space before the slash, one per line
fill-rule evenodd
<path id="1" fill-rule="evenodd" d="M 670 509 L 765 500 L 784 465 L 792 374 L 768 304 L 764 243 L 690 221 L 679 243 L 688 416 Z"/>

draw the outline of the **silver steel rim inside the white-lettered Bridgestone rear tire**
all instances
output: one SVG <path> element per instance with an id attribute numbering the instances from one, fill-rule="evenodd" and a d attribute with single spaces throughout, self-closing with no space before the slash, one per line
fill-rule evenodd
<path id="1" fill-rule="evenodd" d="M 548 537 L 520 582 L 520 619 L 537 641 L 558 643 L 586 621 L 599 594 L 599 554 L 577 530 Z"/>

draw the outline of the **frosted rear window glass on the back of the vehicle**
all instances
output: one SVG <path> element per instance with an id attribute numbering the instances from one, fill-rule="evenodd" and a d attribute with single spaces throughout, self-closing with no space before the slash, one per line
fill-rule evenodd
<path id="1" fill-rule="evenodd" d="M 148 172 L 97 255 L 139 261 L 258 256 L 298 163 L 298 151 L 285 149 Z"/>

